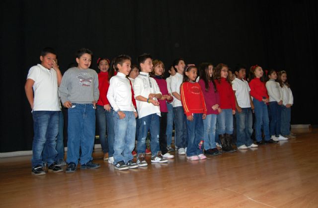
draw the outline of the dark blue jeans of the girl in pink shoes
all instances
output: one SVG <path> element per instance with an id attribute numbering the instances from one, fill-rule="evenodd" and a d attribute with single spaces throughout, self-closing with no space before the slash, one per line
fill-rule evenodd
<path id="1" fill-rule="evenodd" d="M 203 153 L 204 146 L 199 149 L 199 143 L 201 140 L 204 140 L 204 128 L 203 128 L 203 120 L 202 113 L 194 113 L 193 120 L 186 120 L 185 123 L 187 125 L 187 156 L 191 157 L 194 155 L 199 155 Z"/>

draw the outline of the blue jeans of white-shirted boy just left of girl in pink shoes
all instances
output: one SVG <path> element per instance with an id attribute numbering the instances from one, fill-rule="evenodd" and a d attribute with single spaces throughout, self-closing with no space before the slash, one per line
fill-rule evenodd
<path id="1" fill-rule="evenodd" d="M 173 108 L 174 119 L 175 119 L 175 134 L 174 138 L 176 142 L 174 144 L 179 148 L 184 148 L 187 146 L 187 129 L 185 121 L 187 120 L 183 107 L 174 107 Z"/>

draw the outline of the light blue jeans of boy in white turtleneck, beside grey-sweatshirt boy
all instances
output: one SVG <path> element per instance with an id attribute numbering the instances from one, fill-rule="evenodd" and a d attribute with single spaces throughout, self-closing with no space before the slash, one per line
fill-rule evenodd
<path id="1" fill-rule="evenodd" d="M 119 161 L 127 163 L 132 160 L 131 153 L 135 148 L 136 118 L 133 111 L 122 111 L 125 118 L 119 119 L 118 113 L 113 111 L 113 120 L 115 127 L 114 139 L 114 164 Z"/>

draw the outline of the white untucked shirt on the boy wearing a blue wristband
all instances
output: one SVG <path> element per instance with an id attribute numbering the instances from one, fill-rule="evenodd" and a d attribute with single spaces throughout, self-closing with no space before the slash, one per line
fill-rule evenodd
<path id="1" fill-rule="evenodd" d="M 154 78 L 149 77 L 149 73 L 140 72 L 134 81 L 135 99 L 140 95 L 148 98 L 150 93 L 161 94 L 157 81 Z M 139 118 L 143 118 L 154 113 L 161 116 L 159 106 L 155 106 L 148 102 L 142 102 L 137 99 L 136 105 Z"/>

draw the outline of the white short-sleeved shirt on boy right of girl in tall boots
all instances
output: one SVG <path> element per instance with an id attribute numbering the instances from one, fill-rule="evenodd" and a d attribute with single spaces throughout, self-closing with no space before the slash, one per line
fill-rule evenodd
<path id="1" fill-rule="evenodd" d="M 239 107 L 250 108 L 249 91 L 247 81 L 235 78 L 232 81 L 232 89 L 235 90 L 235 96 L 237 98 Z"/>

